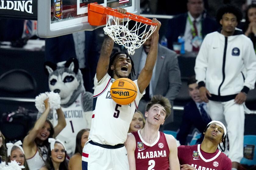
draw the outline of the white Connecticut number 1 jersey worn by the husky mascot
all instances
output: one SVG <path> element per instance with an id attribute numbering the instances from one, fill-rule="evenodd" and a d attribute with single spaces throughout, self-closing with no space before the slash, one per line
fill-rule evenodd
<path id="1" fill-rule="evenodd" d="M 67 153 L 73 155 L 76 147 L 76 134 L 81 130 L 88 128 L 86 120 L 87 112 L 83 110 L 83 94 L 81 93 L 76 101 L 69 107 L 61 107 L 65 119 L 66 127 L 56 137 L 65 142 Z M 56 111 L 53 112 L 53 126 L 58 124 L 58 115 Z"/>

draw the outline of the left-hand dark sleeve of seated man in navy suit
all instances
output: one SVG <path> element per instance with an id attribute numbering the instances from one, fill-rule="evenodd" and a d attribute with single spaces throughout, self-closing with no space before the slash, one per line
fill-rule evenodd
<path id="1" fill-rule="evenodd" d="M 187 135 L 189 134 L 189 131 L 192 126 L 190 120 L 188 119 L 187 113 L 189 114 L 189 110 L 185 106 L 183 116 L 182 116 L 182 122 L 180 125 L 180 131 L 177 134 L 177 140 L 180 141 L 181 145 L 186 145 Z"/>

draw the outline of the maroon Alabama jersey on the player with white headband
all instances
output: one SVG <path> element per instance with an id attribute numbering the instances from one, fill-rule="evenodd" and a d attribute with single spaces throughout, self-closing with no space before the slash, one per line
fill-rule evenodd
<path id="1" fill-rule="evenodd" d="M 218 149 L 215 153 L 201 150 L 200 144 L 179 146 L 178 158 L 180 165 L 189 164 L 197 170 L 231 170 L 231 160 Z"/>

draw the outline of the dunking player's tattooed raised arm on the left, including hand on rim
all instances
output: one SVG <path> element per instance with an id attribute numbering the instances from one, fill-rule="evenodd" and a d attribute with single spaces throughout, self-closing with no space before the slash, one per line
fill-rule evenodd
<path id="1" fill-rule="evenodd" d="M 117 8 L 117 11 L 122 14 L 126 13 L 126 9 L 122 9 L 122 8 Z M 109 58 L 110 58 L 113 46 L 114 46 L 114 40 L 111 39 L 109 36 L 105 36 L 105 39 L 101 46 L 101 54 L 100 54 L 97 69 L 96 69 L 96 78 L 98 82 L 108 72 Z"/>

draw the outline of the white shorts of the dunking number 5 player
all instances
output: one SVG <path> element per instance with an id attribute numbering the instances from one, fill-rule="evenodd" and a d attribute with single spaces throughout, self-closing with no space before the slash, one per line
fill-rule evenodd
<path id="1" fill-rule="evenodd" d="M 129 170 L 125 146 L 108 149 L 87 142 L 82 154 L 83 170 Z"/>

